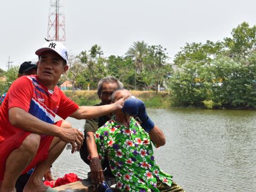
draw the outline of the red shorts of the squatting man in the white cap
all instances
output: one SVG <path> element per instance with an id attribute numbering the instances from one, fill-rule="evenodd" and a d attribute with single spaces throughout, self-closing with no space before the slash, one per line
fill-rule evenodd
<path id="1" fill-rule="evenodd" d="M 62 123 L 61 121 L 55 122 L 54 124 L 60 126 Z M 26 137 L 31 134 L 31 132 L 27 131 L 20 131 L 15 133 L 11 137 L 5 139 L 2 143 L 0 143 L 0 181 L 4 179 L 4 172 L 5 172 L 5 162 L 9 155 L 15 149 L 18 149 L 22 142 L 26 139 Z M 21 174 L 27 173 L 30 169 L 35 167 L 39 162 L 44 161 L 48 157 L 49 148 L 51 146 L 53 136 L 49 135 L 41 135 L 40 145 L 37 150 L 36 156 L 30 162 L 30 164 L 26 167 L 25 170 Z"/>

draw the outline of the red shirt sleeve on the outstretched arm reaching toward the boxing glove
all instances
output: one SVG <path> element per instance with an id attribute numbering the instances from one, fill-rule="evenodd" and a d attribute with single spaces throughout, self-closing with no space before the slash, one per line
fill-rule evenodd
<path id="1" fill-rule="evenodd" d="M 61 90 L 59 91 L 61 99 L 57 115 L 63 119 L 66 119 L 68 116 L 73 114 L 79 106 L 74 101 L 69 99 Z"/>

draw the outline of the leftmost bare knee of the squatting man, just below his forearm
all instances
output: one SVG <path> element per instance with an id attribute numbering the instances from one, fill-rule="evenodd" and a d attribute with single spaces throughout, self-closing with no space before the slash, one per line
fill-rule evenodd
<path id="1" fill-rule="evenodd" d="M 31 133 L 22 142 L 20 149 L 24 150 L 26 153 L 29 153 L 30 155 L 35 155 L 40 145 L 40 140 L 40 135 L 36 133 Z"/>

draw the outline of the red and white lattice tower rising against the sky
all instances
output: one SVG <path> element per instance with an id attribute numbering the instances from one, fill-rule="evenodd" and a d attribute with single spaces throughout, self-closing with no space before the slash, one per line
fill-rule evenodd
<path id="1" fill-rule="evenodd" d="M 63 3 L 60 2 L 60 0 L 50 0 L 47 39 L 51 41 L 66 41 Z"/>

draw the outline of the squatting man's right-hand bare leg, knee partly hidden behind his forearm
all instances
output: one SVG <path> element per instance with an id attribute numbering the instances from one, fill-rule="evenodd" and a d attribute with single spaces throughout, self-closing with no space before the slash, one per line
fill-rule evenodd
<path id="1" fill-rule="evenodd" d="M 71 128 L 68 122 L 62 121 L 61 127 Z M 49 148 L 48 158 L 45 161 L 39 162 L 27 182 L 23 191 L 45 191 L 47 187 L 43 183 L 43 177 L 46 170 L 52 165 L 52 163 L 59 157 L 62 150 L 67 145 L 66 142 L 61 141 L 59 138 L 54 138 Z"/>

